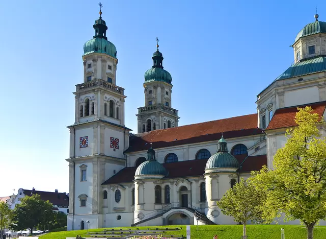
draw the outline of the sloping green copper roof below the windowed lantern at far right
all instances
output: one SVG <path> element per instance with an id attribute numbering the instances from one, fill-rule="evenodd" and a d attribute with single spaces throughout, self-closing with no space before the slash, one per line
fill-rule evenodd
<path id="1" fill-rule="evenodd" d="M 277 80 L 288 79 L 292 77 L 304 76 L 313 73 L 326 71 L 326 57 L 317 57 L 291 65 Z"/>

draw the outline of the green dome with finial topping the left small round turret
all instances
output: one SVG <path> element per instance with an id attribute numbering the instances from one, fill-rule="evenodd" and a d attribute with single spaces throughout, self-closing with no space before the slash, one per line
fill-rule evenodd
<path id="1" fill-rule="evenodd" d="M 156 161 L 155 151 L 152 147 L 147 151 L 147 160 L 138 166 L 134 174 L 134 176 L 140 175 L 168 175 L 164 166 Z"/>

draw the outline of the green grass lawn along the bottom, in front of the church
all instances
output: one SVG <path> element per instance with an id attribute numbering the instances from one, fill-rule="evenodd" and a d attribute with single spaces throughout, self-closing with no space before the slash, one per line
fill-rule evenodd
<path id="1" fill-rule="evenodd" d="M 157 226 L 157 228 L 168 226 Z M 170 226 L 169 226 L 170 227 Z M 169 232 L 167 234 L 183 234 L 186 235 L 185 226 L 181 231 Z M 131 228 L 131 227 L 119 227 L 119 228 Z M 156 228 L 156 227 L 137 227 L 140 229 Z M 206 225 L 206 226 L 191 226 L 191 238 L 199 239 L 212 239 L 215 234 L 219 235 L 219 239 L 240 239 L 242 235 L 242 225 Z M 306 228 L 301 225 L 248 225 L 247 235 L 248 239 L 280 239 L 281 228 L 285 229 L 286 239 L 306 239 Z M 101 229 L 90 229 L 90 231 L 102 231 Z M 66 237 L 76 237 L 76 235 L 82 235 L 88 237 L 87 230 L 77 231 L 59 231 L 50 232 L 46 235 L 40 236 L 40 239 L 65 239 Z M 314 239 L 326 238 L 326 226 L 316 226 L 314 229 Z"/>

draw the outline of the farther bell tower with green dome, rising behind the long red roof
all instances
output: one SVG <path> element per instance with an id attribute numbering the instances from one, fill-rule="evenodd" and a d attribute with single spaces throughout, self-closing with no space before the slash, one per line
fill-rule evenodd
<path id="1" fill-rule="evenodd" d="M 163 55 L 153 54 L 153 66 L 145 73 L 145 106 L 138 108 L 138 133 L 177 127 L 178 110 L 172 108 L 172 77 L 163 69 Z"/>

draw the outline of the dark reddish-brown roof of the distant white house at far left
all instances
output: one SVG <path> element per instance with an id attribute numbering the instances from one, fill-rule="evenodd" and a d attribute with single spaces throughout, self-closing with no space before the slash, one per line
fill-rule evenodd
<path id="1" fill-rule="evenodd" d="M 26 190 L 23 189 L 24 195 L 32 196 L 33 194 L 40 195 L 41 199 L 44 201 L 49 201 L 53 205 L 58 206 L 68 206 L 69 197 L 66 193 L 55 193 L 55 192 L 45 192 L 45 191 L 37 191 L 37 190 Z"/>

